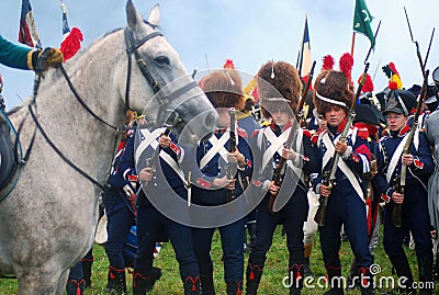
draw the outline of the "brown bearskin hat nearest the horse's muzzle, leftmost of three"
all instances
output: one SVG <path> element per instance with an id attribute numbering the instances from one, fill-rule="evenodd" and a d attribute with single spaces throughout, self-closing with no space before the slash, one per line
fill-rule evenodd
<path id="1" fill-rule="evenodd" d="M 234 69 L 215 70 L 203 77 L 200 87 L 214 107 L 243 110 L 245 102 L 243 81 Z"/>

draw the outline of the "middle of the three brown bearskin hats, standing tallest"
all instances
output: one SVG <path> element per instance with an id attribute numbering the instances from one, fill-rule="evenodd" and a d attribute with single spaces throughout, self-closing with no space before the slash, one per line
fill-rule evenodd
<path id="1" fill-rule="evenodd" d="M 268 110 L 273 110 L 274 105 L 279 109 L 282 101 L 294 114 L 297 112 L 302 81 L 297 70 L 289 63 L 268 61 L 262 65 L 258 71 L 257 87 L 263 117 L 271 117 Z"/>

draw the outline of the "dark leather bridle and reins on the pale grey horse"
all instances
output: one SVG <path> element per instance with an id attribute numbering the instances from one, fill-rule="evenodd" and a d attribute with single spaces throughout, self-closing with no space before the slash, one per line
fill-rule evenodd
<path id="1" fill-rule="evenodd" d="M 148 24 L 150 27 L 153 27 L 154 30 L 156 29 L 155 25 L 145 22 L 146 24 Z M 145 79 L 147 80 L 147 82 L 149 83 L 149 86 L 151 87 L 153 91 L 155 94 L 157 94 L 161 88 L 159 87 L 158 82 L 156 81 L 156 79 L 154 79 L 153 75 L 150 73 L 150 71 L 148 70 L 147 64 L 145 63 L 145 60 L 142 58 L 138 48 L 146 43 L 147 41 L 156 37 L 156 36 L 162 36 L 162 33 L 159 31 L 154 31 L 153 33 L 148 34 L 147 36 L 145 36 L 144 38 L 136 41 L 134 37 L 134 32 L 133 30 L 131 30 L 130 27 L 126 27 L 124 31 L 124 36 L 125 36 L 125 45 L 126 45 L 126 54 L 128 56 L 128 69 L 127 69 L 127 78 L 126 78 L 126 89 L 125 89 L 125 109 L 126 110 L 131 110 L 130 107 L 130 84 L 131 84 L 131 71 L 132 71 L 132 54 L 134 53 L 134 56 L 136 58 L 136 64 L 142 72 L 142 75 L 145 77 Z M 45 55 L 42 55 L 43 57 L 45 57 Z M 44 64 L 43 59 L 40 59 L 37 63 Z M 74 93 L 75 98 L 79 101 L 79 103 L 87 110 L 87 112 L 89 112 L 94 118 L 97 118 L 99 122 L 101 122 L 102 124 L 109 126 L 110 128 L 114 129 L 117 132 L 117 134 L 120 134 L 120 128 L 113 126 L 112 124 L 108 123 L 106 121 L 102 120 L 100 116 L 98 116 L 87 104 L 86 102 L 80 98 L 80 95 L 78 94 L 78 92 L 76 91 L 74 84 L 71 83 L 66 70 L 64 69 L 63 65 L 59 66 L 64 77 L 67 80 L 67 83 L 71 90 L 71 92 Z M 71 162 L 55 145 L 54 141 L 50 140 L 50 138 L 48 137 L 48 135 L 46 134 L 46 132 L 44 131 L 43 126 L 40 124 L 35 112 L 32 110 L 32 105 L 34 105 L 36 107 L 36 95 L 37 95 L 37 90 L 40 87 L 40 81 L 41 81 L 41 77 L 42 77 L 42 71 L 36 72 L 37 75 L 37 79 L 35 79 L 35 84 L 34 84 L 34 95 L 33 95 L 33 100 L 32 102 L 27 105 L 27 109 L 31 113 L 31 116 L 35 123 L 36 128 L 42 133 L 43 137 L 45 138 L 45 140 L 47 141 L 47 144 L 54 149 L 54 151 L 56 154 L 58 154 L 58 156 L 67 163 L 69 164 L 72 169 L 75 169 L 78 173 L 80 173 L 82 177 L 85 177 L 86 179 L 88 179 L 90 182 L 92 182 L 93 184 L 95 184 L 97 186 L 99 186 L 101 190 L 106 190 L 108 188 L 105 186 L 105 184 L 100 183 L 98 180 L 95 180 L 94 178 L 92 178 L 91 175 L 89 175 L 87 172 L 85 172 L 81 168 L 79 168 L 77 164 L 75 164 L 74 162 Z M 192 88 L 198 87 L 195 81 L 192 81 L 185 86 L 183 86 L 180 89 L 175 90 L 173 92 L 171 92 L 169 95 L 167 95 L 166 98 L 161 98 L 160 95 L 156 95 L 157 97 L 157 101 L 159 102 L 159 113 L 160 110 L 165 111 L 166 105 L 173 100 L 173 98 L 178 98 L 179 95 L 185 93 L 187 91 L 191 90 Z M 179 118 L 179 115 L 176 111 L 171 111 L 171 114 L 169 116 L 171 118 L 171 122 L 167 122 L 167 126 L 172 127 L 176 126 L 179 122 L 181 122 L 181 120 Z M 19 127 L 19 134 L 20 134 L 20 129 L 23 126 L 24 121 L 21 123 L 20 127 Z M 19 138 L 19 136 L 18 136 Z M 32 136 L 31 139 L 31 144 L 25 152 L 25 157 L 23 158 L 23 160 L 20 162 L 21 166 L 23 166 L 31 154 L 32 147 L 33 147 L 33 143 L 35 139 L 35 131 L 34 134 Z M 18 139 L 19 140 L 19 139 Z"/>

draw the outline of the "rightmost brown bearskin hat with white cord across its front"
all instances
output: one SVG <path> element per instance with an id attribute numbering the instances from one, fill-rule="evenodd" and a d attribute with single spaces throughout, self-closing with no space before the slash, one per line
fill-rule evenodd
<path id="1" fill-rule="evenodd" d="M 325 70 L 314 83 L 313 99 L 320 115 L 325 115 L 334 105 L 344 107 L 348 113 L 354 100 L 352 83 L 342 71 Z"/>

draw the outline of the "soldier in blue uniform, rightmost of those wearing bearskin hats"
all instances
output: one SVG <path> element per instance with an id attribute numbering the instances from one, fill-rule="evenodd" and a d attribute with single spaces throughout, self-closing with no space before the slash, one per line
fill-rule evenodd
<path id="1" fill-rule="evenodd" d="M 322 169 L 319 175 L 313 180 L 315 192 L 320 194 L 320 198 L 327 197 L 325 225 L 318 227 L 330 285 L 325 294 L 344 294 L 341 281 L 337 280 L 341 275 L 341 226 L 350 240 L 359 266 L 361 294 L 373 294 L 363 179 L 363 173 L 370 170 L 368 133 L 359 133 L 351 127 L 347 140 L 339 140 L 354 100 L 352 84 L 344 72 L 323 71 L 315 81 L 314 90 L 314 105 L 327 121 L 328 127 L 327 132 L 319 134 L 315 144 L 315 154 Z M 336 168 L 334 188 L 330 189 L 325 184 L 325 174 L 330 169 L 335 152 L 340 155 L 340 160 Z"/>

